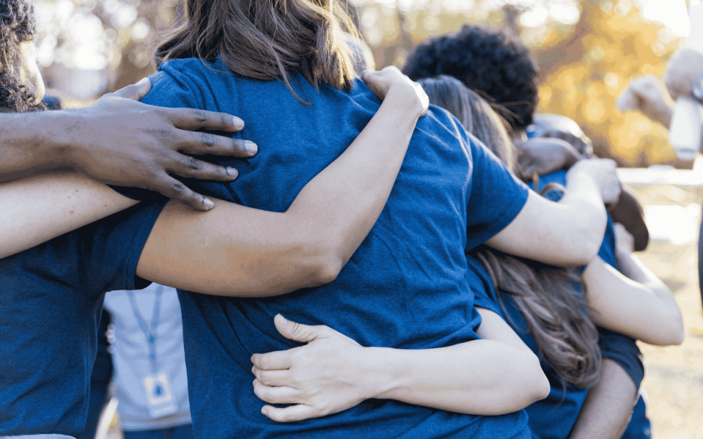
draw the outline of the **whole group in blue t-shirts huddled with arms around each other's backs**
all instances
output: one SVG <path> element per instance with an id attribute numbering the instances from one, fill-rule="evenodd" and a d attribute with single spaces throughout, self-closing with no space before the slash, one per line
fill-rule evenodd
<path id="1" fill-rule="evenodd" d="M 0 437 L 82 435 L 105 293 L 151 282 L 198 438 L 650 437 L 636 340 L 683 322 L 614 162 L 536 114 L 522 42 L 364 70 L 340 3 L 187 0 L 155 74 L 35 111 L 32 1 L 0 0 Z M 174 416 L 151 349 L 133 381 Z"/>

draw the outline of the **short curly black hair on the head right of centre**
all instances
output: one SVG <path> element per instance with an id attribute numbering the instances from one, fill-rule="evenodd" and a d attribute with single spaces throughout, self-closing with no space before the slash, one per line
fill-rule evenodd
<path id="1" fill-rule="evenodd" d="M 510 110 L 515 131 L 532 123 L 537 106 L 537 65 L 519 39 L 498 30 L 463 25 L 423 41 L 408 55 L 403 73 L 420 78 L 446 74 Z"/>

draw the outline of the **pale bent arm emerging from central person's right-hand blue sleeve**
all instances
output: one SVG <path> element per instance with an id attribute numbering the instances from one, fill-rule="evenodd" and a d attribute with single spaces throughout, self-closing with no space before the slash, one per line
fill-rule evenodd
<path id="1" fill-rule="evenodd" d="M 520 214 L 486 244 L 556 266 L 585 265 L 603 240 L 607 223 L 603 202 L 618 196 L 614 162 L 581 160 L 569 171 L 567 191 L 559 202 L 530 192 Z"/>

